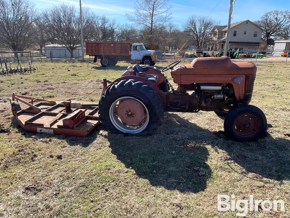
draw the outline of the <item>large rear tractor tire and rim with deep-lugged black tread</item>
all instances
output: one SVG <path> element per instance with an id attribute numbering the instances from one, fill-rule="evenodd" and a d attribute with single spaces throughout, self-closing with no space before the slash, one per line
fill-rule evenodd
<path id="1" fill-rule="evenodd" d="M 152 134 L 163 119 L 163 105 L 148 85 L 122 80 L 108 88 L 99 101 L 99 119 L 113 133 Z"/>

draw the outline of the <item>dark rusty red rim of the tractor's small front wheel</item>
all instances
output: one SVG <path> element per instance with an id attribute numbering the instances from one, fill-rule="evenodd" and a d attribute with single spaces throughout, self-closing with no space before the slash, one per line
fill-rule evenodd
<path id="1" fill-rule="evenodd" d="M 254 135 L 260 126 L 259 119 L 253 114 L 243 114 L 235 120 L 235 133 L 242 137 Z"/>

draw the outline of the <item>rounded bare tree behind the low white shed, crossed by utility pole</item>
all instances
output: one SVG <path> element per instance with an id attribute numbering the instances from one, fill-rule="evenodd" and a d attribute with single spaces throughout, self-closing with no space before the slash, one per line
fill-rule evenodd
<path id="1" fill-rule="evenodd" d="M 83 9 L 84 40 L 87 38 L 88 28 L 93 21 L 92 16 L 87 8 Z M 47 20 L 48 28 L 55 37 L 55 42 L 68 49 L 70 57 L 73 57 L 73 50 L 81 43 L 78 10 L 73 5 L 60 4 L 44 12 L 44 17 Z"/>

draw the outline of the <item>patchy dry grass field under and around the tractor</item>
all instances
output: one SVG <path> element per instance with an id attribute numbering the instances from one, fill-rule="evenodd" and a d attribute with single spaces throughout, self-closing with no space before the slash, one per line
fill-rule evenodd
<path id="1" fill-rule="evenodd" d="M 127 68 L 117 65 L 43 62 L 38 72 L 0 77 L 0 127 L 11 128 L 0 134 L 0 217 L 236 217 L 217 211 L 218 194 L 282 199 L 284 212 L 246 217 L 290 217 L 289 65 L 257 65 L 251 104 L 268 120 L 257 142 L 229 140 L 214 112 L 165 113 L 152 136 L 116 135 L 100 125 L 85 138 L 29 133 L 11 114 L 12 91 L 83 96 Z"/>

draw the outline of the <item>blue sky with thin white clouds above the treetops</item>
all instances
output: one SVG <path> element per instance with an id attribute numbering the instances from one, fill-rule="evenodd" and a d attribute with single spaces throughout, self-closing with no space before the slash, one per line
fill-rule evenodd
<path id="1" fill-rule="evenodd" d="M 40 9 L 46 9 L 53 4 L 73 3 L 76 6 L 79 0 L 32 0 Z M 97 15 L 105 15 L 119 23 L 129 22 L 126 13 L 134 13 L 134 0 L 82 0 L 83 7 L 89 7 Z M 87 5 L 85 4 L 87 3 Z M 221 25 L 227 24 L 229 0 L 171 0 L 171 21 L 182 26 L 186 19 L 193 15 L 210 16 L 220 21 Z M 217 5 L 218 4 L 218 5 Z M 216 7 L 215 7 L 216 6 Z M 215 8 L 215 9 L 214 9 Z M 213 10 L 214 9 L 214 10 Z M 255 21 L 266 11 L 289 10 L 289 0 L 237 0 L 234 5 L 232 22 L 250 19 Z M 211 12 L 212 11 L 212 12 Z"/>

